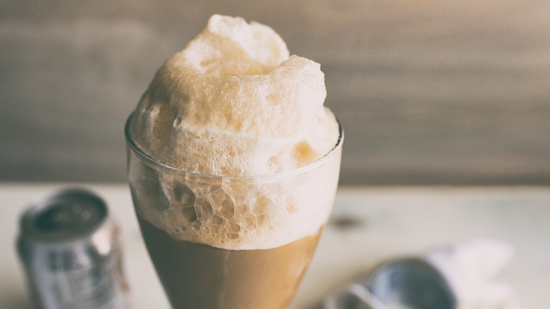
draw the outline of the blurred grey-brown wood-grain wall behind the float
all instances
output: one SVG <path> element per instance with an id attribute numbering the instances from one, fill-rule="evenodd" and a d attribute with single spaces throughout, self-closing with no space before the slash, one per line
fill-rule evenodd
<path id="1" fill-rule="evenodd" d="M 550 1 L 0 0 L 0 181 L 123 181 L 123 123 L 212 13 L 322 64 L 341 183 L 550 184 Z"/>

